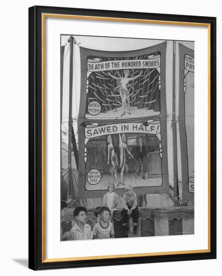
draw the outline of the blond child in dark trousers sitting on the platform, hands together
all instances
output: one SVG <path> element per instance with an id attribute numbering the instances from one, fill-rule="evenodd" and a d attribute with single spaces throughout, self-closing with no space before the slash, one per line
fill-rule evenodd
<path id="1" fill-rule="evenodd" d="M 123 226 L 125 227 L 125 236 L 128 237 L 128 218 L 132 216 L 133 218 L 133 234 L 137 234 L 137 222 L 138 222 L 138 207 L 137 207 L 137 195 L 133 191 L 133 187 L 129 185 L 125 188 L 126 193 L 123 196 L 125 201 L 124 209 L 122 210 L 121 214 L 123 217 Z"/>

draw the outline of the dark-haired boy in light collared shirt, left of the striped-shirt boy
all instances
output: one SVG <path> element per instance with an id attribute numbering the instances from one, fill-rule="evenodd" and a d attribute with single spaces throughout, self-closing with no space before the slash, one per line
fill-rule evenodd
<path id="1" fill-rule="evenodd" d="M 73 211 L 76 224 L 69 233 L 69 240 L 92 239 L 92 231 L 90 225 L 86 223 L 87 210 L 83 206 L 78 206 Z"/>

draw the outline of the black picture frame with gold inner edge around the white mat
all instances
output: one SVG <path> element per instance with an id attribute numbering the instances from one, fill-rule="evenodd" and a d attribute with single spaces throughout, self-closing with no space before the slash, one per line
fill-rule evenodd
<path id="1" fill-rule="evenodd" d="M 208 248 L 187 251 L 46 257 L 46 20 L 78 19 L 143 24 L 207 27 L 208 30 Z M 99 11 L 55 7 L 29 9 L 29 267 L 34 270 L 95 265 L 117 265 L 216 256 L 215 172 L 215 25 L 210 17 Z M 41 149 L 41 150 L 40 150 Z"/>

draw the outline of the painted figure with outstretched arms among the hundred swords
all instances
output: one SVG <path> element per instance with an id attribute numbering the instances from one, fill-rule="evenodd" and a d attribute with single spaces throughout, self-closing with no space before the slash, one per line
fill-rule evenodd
<path id="1" fill-rule="evenodd" d="M 135 80 L 139 76 L 141 76 L 142 71 L 140 72 L 139 75 L 137 75 L 136 77 L 133 77 L 133 78 L 129 78 L 130 70 L 124 70 L 124 77 L 115 77 L 115 76 L 111 75 L 110 73 L 107 73 L 107 74 L 110 77 L 117 80 L 118 86 L 115 88 L 115 90 L 120 88 L 120 95 L 121 95 L 122 106 L 123 106 L 123 113 L 121 114 L 121 116 L 126 114 L 126 112 L 128 114 L 131 114 L 130 113 L 130 94 L 129 94 L 129 90 L 128 90 L 128 84 L 129 84 L 130 81 Z M 126 109 L 126 111 L 125 111 L 125 109 Z"/>

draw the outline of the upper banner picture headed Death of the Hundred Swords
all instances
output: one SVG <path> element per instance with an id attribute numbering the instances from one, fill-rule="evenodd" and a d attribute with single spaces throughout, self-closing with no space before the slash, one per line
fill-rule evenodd
<path id="1" fill-rule="evenodd" d="M 128 59 L 89 57 L 87 66 L 87 119 L 160 114 L 159 52 Z"/>

